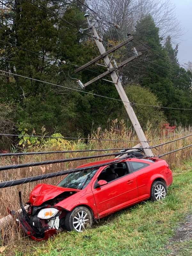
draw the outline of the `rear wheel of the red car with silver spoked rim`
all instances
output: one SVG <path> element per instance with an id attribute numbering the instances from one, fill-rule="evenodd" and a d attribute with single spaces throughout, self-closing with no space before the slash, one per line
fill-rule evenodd
<path id="1" fill-rule="evenodd" d="M 162 181 L 154 181 L 151 185 L 151 201 L 159 201 L 167 195 L 167 186 Z"/>

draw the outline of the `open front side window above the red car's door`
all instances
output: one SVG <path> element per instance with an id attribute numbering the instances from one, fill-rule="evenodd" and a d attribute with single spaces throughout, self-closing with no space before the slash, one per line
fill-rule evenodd
<path id="1" fill-rule="evenodd" d="M 98 176 L 98 181 L 106 180 L 107 182 L 110 182 L 127 174 L 129 174 L 129 170 L 126 163 L 121 162 L 117 164 L 111 164 L 100 173 Z"/>

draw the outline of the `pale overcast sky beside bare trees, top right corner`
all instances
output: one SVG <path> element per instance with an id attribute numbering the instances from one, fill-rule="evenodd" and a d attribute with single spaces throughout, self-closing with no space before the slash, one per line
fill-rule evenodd
<path id="1" fill-rule="evenodd" d="M 180 64 L 192 61 L 192 0 L 172 0 L 176 5 L 176 15 L 185 30 L 179 43 L 178 59 Z"/>

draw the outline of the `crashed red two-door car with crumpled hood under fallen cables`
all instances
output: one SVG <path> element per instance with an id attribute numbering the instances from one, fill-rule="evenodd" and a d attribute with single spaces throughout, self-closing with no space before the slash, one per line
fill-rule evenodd
<path id="1" fill-rule="evenodd" d="M 21 228 L 37 241 L 63 229 L 82 232 L 92 226 L 93 220 L 148 198 L 155 201 L 166 196 L 172 172 L 164 160 L 154 157 L 117 161 L 84 164 L 80 167 L 85 169 L 68 174 L 56 186 L 37 185 L 30 193 L 27 210 L 20 196 Z"/>

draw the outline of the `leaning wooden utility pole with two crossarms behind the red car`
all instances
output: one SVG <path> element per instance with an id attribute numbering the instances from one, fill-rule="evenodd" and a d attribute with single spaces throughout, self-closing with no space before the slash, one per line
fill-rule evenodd
<path id="1" fill-rule="evenodd" d="M 112 82 L 112 83 L 115 84 L 117 92 L 119 93 L 119 96 L 120 96 L 121 100 L 123 101 L 123 104 L 125 106 L 127 114 L 128 114 L 128 116 L 129 116 L 129 118 L 130 118 L 130 120 L 132 122 L 132 125 L 133 125 L 133 127 L 135 129 L 135 132 L 137 133 L 137 136 L 138 136 L 138 138 L 140 140 L 140 143 L 141 143 L 142 147 L 144 148 L 144 152 L 145 152 L 146 156 L 153 156 L 153 153 L 152 153 L 151 149 L 149 148 L 149 144 L 148 144 L 147 139 L 145 137 L 145 134 L 144 134 L 144 132 L 143 132 L 141 126 L 140 126 L 140 123 L 139 123 L 139 121 L 137 119 L 137 116 L 135 115 L 135 112 L 133 111 L 133 108 L 132 108 L 132 106 L 130 104 L 129 99 L 127 98 L 127 95 L 126 95 L 126 93 L 125 93 L 125 91 L 123 89 L 123 86 L 121 85 L 121 82 L 119 81 L 119 77 L 116 74 L 116 70 L 118 68 L 121 68 L 125 64 L 127 64 L 128 62 L 136 59 L 137 57 L 139 57 L 141 55 L 141 53 L 140 52 L 137 53 L 137 51 L 135 50 L 136 51 L 135 56 L 129 58 L 128 60 L 123 61 L 118 66 L 117 66 L 116 62 L 114 61 L 113 63 L 114 63 L 115 67 L 113 67 L 112 64 L 111 64 L 111 60 L 112 60 L 113 56 L 109 59 L 108 54 L 111 53 L 111 52 L 114 52 L 116 49 L 120 48 L 122 45 L 128 43 L 129 41 L 132 41 L 133 37 L 128 38 L 128 40 L 126 42 L 121 43 L 119 45 L 116 45 L 115 47 L 113 47 L 113 49 L 108 50 L 106 52 L 105 51 L 105 47 L 102 44 L 102 39 L 99 38 L 99 36 L 97 34 L 97 31 L 95 29 L 94 25 L 95 25 L 96 22 L 94 24 L 91 24 L 90 21 L 89 21 L 89 17 L 88 16 L 89 16 L 89 14 L 87 14 L 87 13 L 84 15 L 84 17 L 87 18 L 89 29 L 92 32 L 92 36 L 94 37 L 95 43 L 97 44 L 97 47 L 99 48 L 99 51 L 100 51 L 101 55 L 96 57 L 94 60 L 91 60 L 87 64 L 83 65 L 82 67 L 77 68 L 75 73 L 77 73 L 78 71 L 86 68 L 87 66 L 91 65 L 92 63 L 94 63 L 94 62 L 96 62 L 96 61 L 98 61 L 100 59 L 104 60 L 104 62 L 106 64 L 106 68 L 108 69 L 108 71 L 106 71 L 103 74 L 93 78 L 91 81 L 89 81 L 89 82 L 87 82 L 85 84 L 82 84 L 80 81 L 79 82 L 81 83 L 82 87 L 85 87 L 85 86 L 87 86 L 87 85 L 97 81 L 98 79 L 106 76 L 107 74 L 110 74 L 110 76 L 111 76 L 113 81 L 109 81 L 109 82 Z M 97 21 L 98 20 L 100 20 L 100 18 L 97 17 Z M 84 30 L 86 30 L 86 29 L 84 29 Z M 80 33 L 83 33 L 83 29 L 80 29 Z"/>

